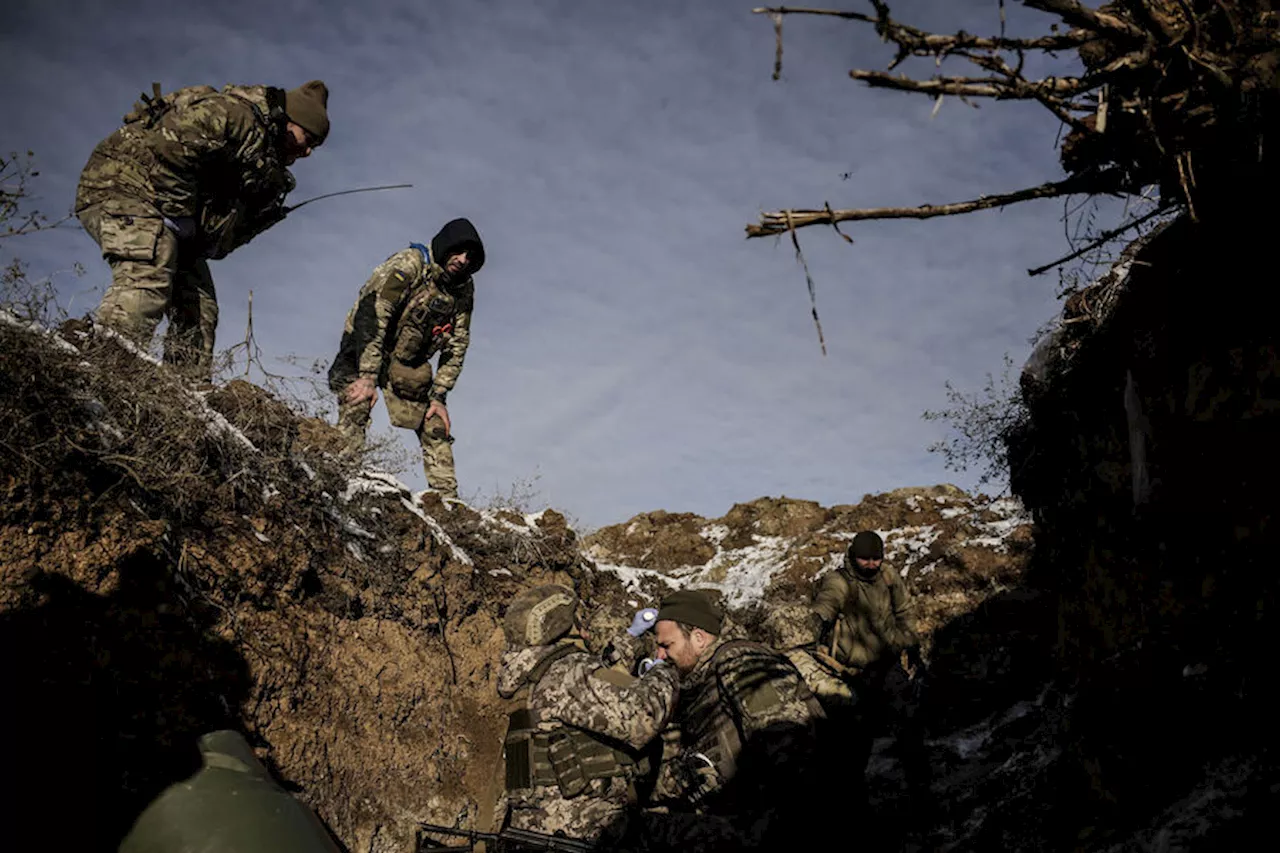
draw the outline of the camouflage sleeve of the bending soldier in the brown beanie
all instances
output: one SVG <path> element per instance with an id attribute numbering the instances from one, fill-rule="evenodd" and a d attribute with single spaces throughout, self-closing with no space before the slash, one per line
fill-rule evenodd
<path id="1" fill-rule="evenodd" d="M 264 147 L 252 108 L 212 95 L 169 110 L 156 127 L 151 184 L 160 213 L 170 219 L 200 215 L 200 184 L 211 164 Z"/>

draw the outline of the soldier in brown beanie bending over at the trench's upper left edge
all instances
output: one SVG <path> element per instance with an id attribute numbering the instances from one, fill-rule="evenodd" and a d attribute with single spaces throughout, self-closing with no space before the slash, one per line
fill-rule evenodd
<path id="1" fill-rule="evenodd" d="M 99 321 L 147 347 L 168 316 L 165 360 L 207 379 L 218 327 L 207 261 L 284 218 L 288 167 L 329 133 L 329 90 L 154 91 L 93 149 L 76 215 L 111 266 Z"/>

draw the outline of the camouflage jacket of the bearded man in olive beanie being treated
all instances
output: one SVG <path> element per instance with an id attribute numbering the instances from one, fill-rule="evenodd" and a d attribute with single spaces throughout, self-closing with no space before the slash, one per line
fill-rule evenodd
<path id="1" fill-rule="evenodd" d="M 718 638 L 680 690 L 680 751 L 664 757 L 655 792 L 686 804 L 714 799 L 744 761 L 740 789 L 759 788 L 774 771 L 785 777 L 788 766 L 805 762 L 813 726 L 824 716 L 795 665 L 750 640 Z M 741 799 L 722 797 L 712 811 L 737 811 Z"/>

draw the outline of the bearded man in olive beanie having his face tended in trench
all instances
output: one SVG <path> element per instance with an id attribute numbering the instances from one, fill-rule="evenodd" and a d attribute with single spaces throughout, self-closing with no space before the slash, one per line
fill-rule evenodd
<path id="1" fill-rule="evenodd" d="M 650 845 L 695 849 L 776 848 L 800 840 L 803 808 L 824 716 L 796 667 L 773 649 L 723 638 L 723 613 L 700 590 L 663 599 L 658 657 L 680 671 L 675 725 L 680 752 L 663 761 Z M 782 849 L 782 848 L 776 848 Z"/>

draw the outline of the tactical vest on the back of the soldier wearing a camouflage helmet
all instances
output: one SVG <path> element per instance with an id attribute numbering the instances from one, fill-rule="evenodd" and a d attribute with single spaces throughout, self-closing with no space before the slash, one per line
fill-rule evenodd
<path id="1" fill-rule="evenodd" d="M 539 725 L 529 707 L 530 695 L 552 663 L 575 653 L 580 649 L 566 644 L 544 657 L 512 699 L 515 708 L 503 738 L 508 792 L 556 785 L 567 799 L 585 792 L 595 779 L 634 777 L 648 771 L 646 757 L 632 756 L 584 729 Z M 600 676 L 612 678 L 608 671 Z"/>

